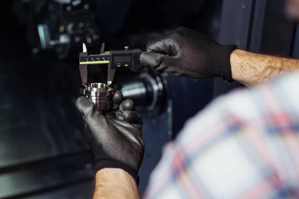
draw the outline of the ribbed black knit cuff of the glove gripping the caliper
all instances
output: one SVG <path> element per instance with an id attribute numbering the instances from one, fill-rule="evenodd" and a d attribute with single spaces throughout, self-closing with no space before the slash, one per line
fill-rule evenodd
<path id="1" fill-rule="evenodd" d="M 207 66 L 210 77 L 221 77 L 229 83 L 234 82 L 230 64 L 230 54 L 238 49 L 234 44 L 221 45 L 211 43 L 208 47 Z"/>

